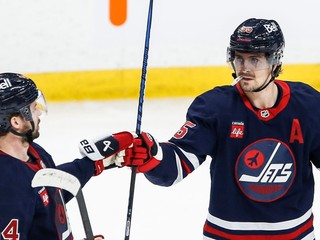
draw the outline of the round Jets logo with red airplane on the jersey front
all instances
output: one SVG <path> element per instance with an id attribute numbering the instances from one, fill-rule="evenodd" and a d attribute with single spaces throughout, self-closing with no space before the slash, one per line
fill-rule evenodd
<path id="1" fill-rule="evenodd" d="M 295 158 L 285 143 L 262 139 L 241 152 L 235 176 L 241 191 L 248 198 L 271 202 L 289 190 L 295 169 Z"/>

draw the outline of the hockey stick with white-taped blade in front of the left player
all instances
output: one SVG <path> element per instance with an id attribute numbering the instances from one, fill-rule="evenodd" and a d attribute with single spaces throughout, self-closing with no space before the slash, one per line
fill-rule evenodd
<path id="1" fill-rule="evenodd" d="M 89 215 L 86 207 L 86 203 L 84 201 L 81 184 L 75 176 L 70 173 L 54 169 L 54 168 L 45 168 L 41 169 L 34 175 L 32 182 L 32 187 L 56 187 L 61 188 L 70 192 L 73 196 L 76 197 L 82 224 L 84 231 L 86 233 L 87 240 L 93 240 L 93 232 L 89 220 Z"/>

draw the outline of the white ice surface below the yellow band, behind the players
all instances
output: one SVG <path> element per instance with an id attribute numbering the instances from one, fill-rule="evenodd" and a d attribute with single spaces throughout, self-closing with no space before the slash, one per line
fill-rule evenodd
<path id="1" fill-rule="evenodd" d="M 168 140 L 184 123 L 191 98 L 146 99 L 142 130 L 159 141 Z M 135 100 L 48 103 L 48 115 L 41 122 L 41 144 L 56 164 L 79 157 L 78 142 L 101 133 L 134 131 Z M 209 161 L 179 184 L 165 188 L 137 175 L 134 196 L 131 240 L 196 240 L 202 239 L 202 227 L 209 202 Z M 315 170 L 316 184 L 319 173 Z M 131 171 L 127 168 L 104 171 L 84 187 L 92 228 L 107 240 L 124 239 Z M 227 190 L 226 190 L 227 191 Z M 320 191 L 315 195 L 315 231 L 319 232 Z M 84 231 L 75 199 L 67 204 L 76 240 Z M 317 234 L 320 236 L 320 233 Z"/>

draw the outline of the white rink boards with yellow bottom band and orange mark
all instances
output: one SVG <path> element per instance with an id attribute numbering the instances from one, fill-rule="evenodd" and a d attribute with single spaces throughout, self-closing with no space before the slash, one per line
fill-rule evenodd
<path id="1" fill-rule="evenodd" d="M 137 98 L 148 0 L 0 0 L 0 71 L 32 77 L 49 101 Z M 146 97 L 195 96 L 232 82 L 226 48 L 251 17 L 286 39 L 280 79 L 320 89 L 317 0 L 155 0 Z"/>

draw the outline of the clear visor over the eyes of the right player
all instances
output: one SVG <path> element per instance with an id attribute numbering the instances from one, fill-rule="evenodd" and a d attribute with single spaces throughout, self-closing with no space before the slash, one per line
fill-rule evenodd
<path id="1" fill-rule="evenodd" d="M 243 53 L 230 51 L 227 56 L 228 65 L 236 72 L 240 71 L 260 71 L 279 65 L 280 59 L 275 58 L 274 54 L 267 56 L 265 53 Z"/>

